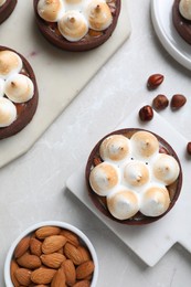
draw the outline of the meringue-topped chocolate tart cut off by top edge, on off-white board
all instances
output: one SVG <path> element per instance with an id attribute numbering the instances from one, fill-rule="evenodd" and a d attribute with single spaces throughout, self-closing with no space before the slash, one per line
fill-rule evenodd
<path id="1" fill-rule="evenodd" d="M 113 34 L 120 0 L 33 0 L 36 24 L 47 41 L 82 52 L 105 43 Z"/>

